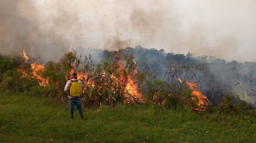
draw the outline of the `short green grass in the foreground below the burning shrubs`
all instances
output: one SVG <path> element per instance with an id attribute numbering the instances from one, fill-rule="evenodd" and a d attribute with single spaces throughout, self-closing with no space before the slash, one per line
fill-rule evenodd
<path id="1" fill-rule="evenodd" d="M 0 98 L 0 142 L 256 142 L 255 115 L 119 105 L 83 109 L 84 121 L 75 110 L 71 121 L 68 105 L 26 93 Z"/>

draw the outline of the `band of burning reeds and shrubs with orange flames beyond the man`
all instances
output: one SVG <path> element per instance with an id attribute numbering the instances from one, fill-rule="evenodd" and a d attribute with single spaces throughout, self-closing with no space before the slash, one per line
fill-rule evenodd
<path id="1" fill-rule="evenodd" d="M 78 73 L 78 79 L 82 82 L 82 104 L 84 106 L 100 106 L 103 104 L 114 105 L 117 102 L 123 103 L 148 103 L 175 107 L 186 106 L 193 100 L 198 105 L 191 108 L 205 110 L 204 103 L 208 104 L 207 98 L 197 90 L 194 83 L 186 82 L 191 90 L 191 97 L 185 98 L 182 94 L 183 81 L 177 76 L 177 70 L 170 68 L 173 76 L 167 83 L 163 80 L 156 80 L 153 74 L 138 71 L 137 63 L 133 55 L 122 55 L 116 52 L 112 59 L 94 63 L 92 56 L 77 55 L 75 51 L 65 54 L 59 63 L 48 62 L 44 65 L 31 61 L 25 50 L 22 54 L 24 63 L 30 67 L 30 75 L 37 79 L 41 86 L 55 85 L 60 94 L 62 102 L 64 93 L 59 90 L 70 79 L 73 72 Z M 83 59 L 83 60 L 82 60 Z M 28 76 L 25 66 L 17 68 L 23 77 Z M 57 80 L 57 77 L 64 77 L 65 81 Z M 180 84 L 177 84 L 180 81 Z M 184 87 L 185 89 L 188 87 Z M 166 95 L 166 96 L 165 96 Z M 175 100 L 174 100 L 175 99 Z"/>

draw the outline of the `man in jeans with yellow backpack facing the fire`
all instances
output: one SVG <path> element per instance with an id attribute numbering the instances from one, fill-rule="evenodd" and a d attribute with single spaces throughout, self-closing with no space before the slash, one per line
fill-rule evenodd
<path id="1" fill-rule="evenodd" d="M 73 120 L 74 117 L 74 105 L 76 105 L 79 115 L 83 120 L 82 108 L 81 108 L 81 99 L 82 94 L 82 83 L 80 80 L 77 80 L 77 74 L 73 73 L 71 75 L 71 80 L 66 83 L 65 92 L 68 92 L 69 98 L 69 109 L 70 109 L 70 119 Z"/>

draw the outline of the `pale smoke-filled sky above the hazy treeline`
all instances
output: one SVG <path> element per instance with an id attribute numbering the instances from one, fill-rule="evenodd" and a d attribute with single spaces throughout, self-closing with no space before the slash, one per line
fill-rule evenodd
<path id="1" fill-rule="evenodd" d="M 165 52 L 256 62 L 256 1 L 0 3 L 3 54 L 20 53 L 26 46 L 40 56 L 51 51 L 55 54 L 47 54 L 47 59 L 54 60 L 68 52 L 71 44 L 74 48 L 109 50 L 141 45 Z"/>

